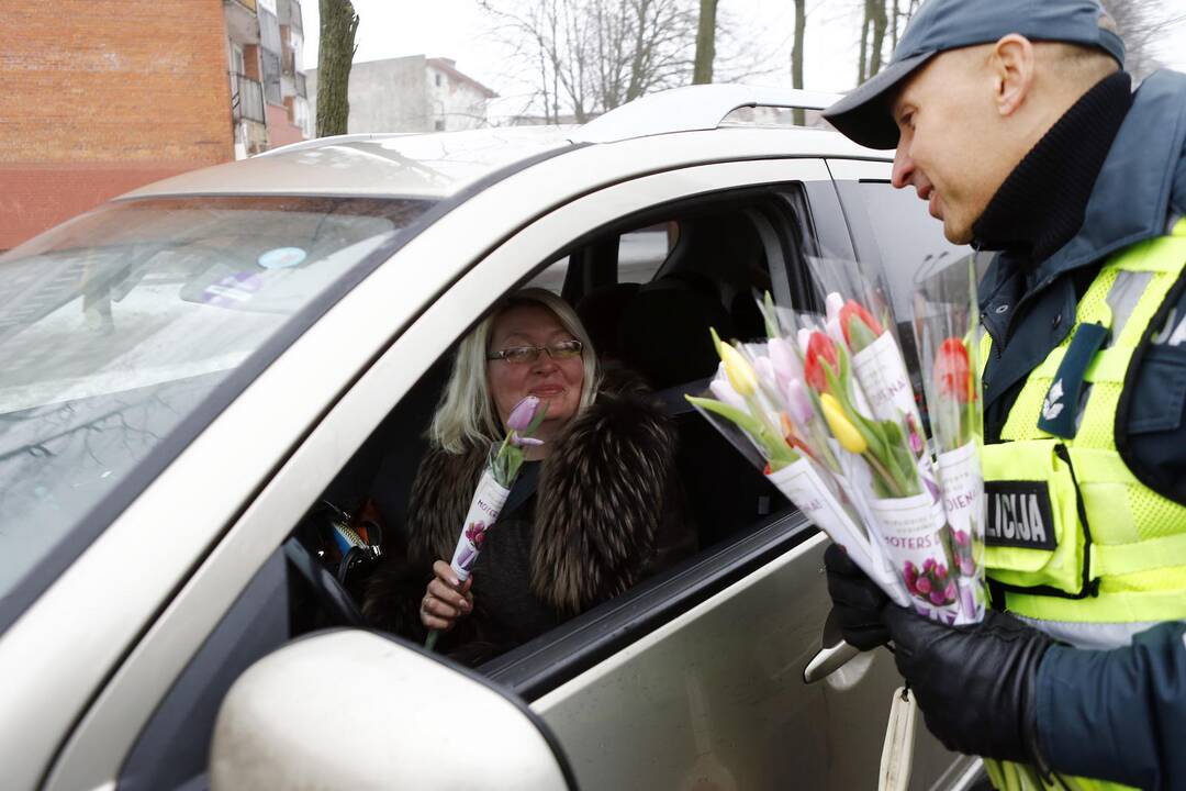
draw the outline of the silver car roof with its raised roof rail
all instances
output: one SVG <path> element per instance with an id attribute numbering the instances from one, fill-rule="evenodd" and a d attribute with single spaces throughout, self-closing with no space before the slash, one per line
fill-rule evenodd
<path id="1" fill-rule="evenodd" d="M 566 149 L 689 132 L 727 134 L 738 126 L 731 119 L 741 108 L 818 110 L 836 98 L 750 85 L 693 85 L 644 96 L 585 126 L 320 138 L 183 173 L 119 199 L 222 194 L 444 199 L 499 171 Z M 863 149 L 830 129 L 778 126 L 766 132 L 771 149 L 788 155 L 885 158 L 885 152 Z"/>

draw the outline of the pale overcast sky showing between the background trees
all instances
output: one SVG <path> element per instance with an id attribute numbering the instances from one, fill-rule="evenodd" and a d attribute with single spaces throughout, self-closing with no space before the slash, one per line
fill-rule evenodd
<path id="1" fill-rule="evenodd" d="M 1180 0 L 1167 4 L 1174 6 Z M 502 95 L 491 115 L 519 113 L 530 85 L 516 78 L 505 51 L 492 34 L 495 21 L 477 0 L 353 0 L 358 13 L 358 50 L 355 62 L 426 55 L 457 60 L 457 68 Z M 843 91 L 856 82 L 859 6 L 856 0 L 809 0 L 805 88 Z M 301 4 L 307 69 L 317 66 L 318 2 Z M 795 27 L 790 0 L 720 0 L 739 46 L 766 74 L 748 78 L 754 84 L 790 87 L 790 38 Z M 719 53 L 720 55 L 720 53 Z M 1161 57 L 1186 71 L 1186 15 L 1165 31 Z"/>

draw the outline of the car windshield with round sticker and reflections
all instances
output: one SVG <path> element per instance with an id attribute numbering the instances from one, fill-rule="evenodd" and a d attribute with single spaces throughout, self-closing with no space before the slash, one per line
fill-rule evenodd
<path id="1" fill-rule="evenodd" d="M 0 256 L 0 604 L 68 540 L 81 550 L 432 203 L 130 200 Z"/>

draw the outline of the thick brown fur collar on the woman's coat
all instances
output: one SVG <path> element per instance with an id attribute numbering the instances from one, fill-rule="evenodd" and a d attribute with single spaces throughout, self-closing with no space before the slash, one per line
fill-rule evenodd
<path id="1" fill-rule="evenodd" d="M 408 559 L 449 557 L 489 448 L 431 449 L 408 508 Z M 656 551 L 674 441 L 667 416 L 632 377 L 607 376 L 594 402 L 555 440 L 540 470 L 531 591 L 563 615 L 614 597 Z"/>

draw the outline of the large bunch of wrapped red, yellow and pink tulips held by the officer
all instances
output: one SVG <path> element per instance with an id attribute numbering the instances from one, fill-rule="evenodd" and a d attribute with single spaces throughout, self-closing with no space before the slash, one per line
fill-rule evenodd
<path id="1" fill-rule="evenodd" d="M 869 289 L 829 293 L 824 317 L 767 295 L 767 338 L 714 333 L 712 397 L 689 397 L 893 601 L 948 624 L 984 607 L 974 282 L 927 301 L 914 326 L 931 440 L 891 311 Z"/>

